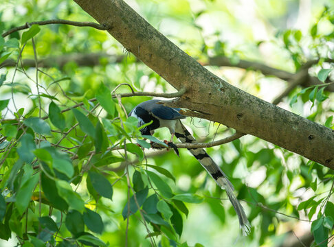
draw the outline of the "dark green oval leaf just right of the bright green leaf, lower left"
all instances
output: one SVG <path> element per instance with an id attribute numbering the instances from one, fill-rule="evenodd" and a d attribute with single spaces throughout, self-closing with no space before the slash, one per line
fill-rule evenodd
<path id="1" fill-rule="evenodd" d="M 113 187 L 109 183 L 109 180 L 105 178 L 102 174 L 98 174 L 97 172 L 88 172 L 89 178 L 91 180 L 91 185 L 93 188 L 105 198 L 109 198 L 112 200 L 113 198 Z"/>

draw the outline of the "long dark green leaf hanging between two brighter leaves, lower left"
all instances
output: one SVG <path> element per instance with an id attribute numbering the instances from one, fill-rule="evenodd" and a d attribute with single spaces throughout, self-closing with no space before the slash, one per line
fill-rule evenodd
<path id="1" fill-rule="evenodd" d="M 59 196 L 58 189 L 56 187 L 56 182 L 44 173 L 41 175 L 41 184 L 45 197 L 49 200 L 52 207 L 59 209 L 60 211 L 65 211 L 68 209 L 67 202 Z"/>

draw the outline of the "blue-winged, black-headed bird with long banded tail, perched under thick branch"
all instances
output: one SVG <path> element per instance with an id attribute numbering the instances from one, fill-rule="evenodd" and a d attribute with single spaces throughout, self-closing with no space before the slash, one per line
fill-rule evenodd
<path id="1" fill-rule="evenodd" d="M 147 100 L 135 106 L 129 113 L 129 117 L 135 117 L 138 120 L 138 127 L 148 124 L 144 126 L 144 128 L 141 128 L 140 132 L 142 132 L 143 135 L 152 135 L 157 128 L 166 127 L 171 134 L 170 142 L 172 142 L 175 136 L 181 143 L 196 143 L 196 139 L 194 139 L 192 134 L 190 134 L 181 123 L 181 119 L 186 118 L 186 116 L 179 113 L 181 109 L 157 104 L 158 102 L 161 102 L 161 100 Z M 151 124 L 149 124 L 150 122 Z M 234 187 L 230 180 L 228 180 L 219 165 L 216 165 L 203 148 L 188 148 L 188 150 L 216 181 L 216 184 L 221 187 L 221 189 L 225 189 L 227 197 L 230 199 L 236 211 L 236 215 L 238 215 L 239 225 L 243 235 L 249 235 L 251 226 L 241 203 L 234 195 Z"/>

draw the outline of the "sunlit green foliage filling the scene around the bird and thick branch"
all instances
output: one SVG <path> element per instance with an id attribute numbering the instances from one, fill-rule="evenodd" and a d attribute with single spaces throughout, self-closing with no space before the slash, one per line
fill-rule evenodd
<path id="1" fill-rule="evenodd" d="M 227 82 L 269 102 L 288 89 L 280 107 L 334 129 L 333 1 L 126 2 Z M 0 5 L 2 34 L 49 19 L 94 21 L 73 1 Z M 251 136 L 208 148 L 252 224 L 241 237 L 225 192 L 187 150 L 177 157 L 145 149 L 144 158 L 131 144 L 140 132 L 124 108 L 129 113 L 150 97 L 119 101 L 109 92 L 122 83 L 175 89 L 107 32 L 32 26 L 0 38 L 0 52 L 1 246 L 333 246 L 333 171 L 322 165 Z M 184 122 L 201 142 L 234 131 Z"/>

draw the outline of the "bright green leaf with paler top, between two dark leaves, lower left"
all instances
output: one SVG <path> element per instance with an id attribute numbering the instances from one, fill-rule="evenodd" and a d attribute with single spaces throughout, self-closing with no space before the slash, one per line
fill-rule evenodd
<path id="1" fill-rule="evenodd" d="M 69 204 L 69 207 L 78 211 L 85 209 L 85 202 L 79 196 L 78 193 L 74 192 L 71 185 L 64 180 L 57 180 L 56 187 L 58 189 L 59 196 Z"/>

